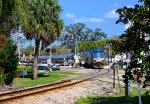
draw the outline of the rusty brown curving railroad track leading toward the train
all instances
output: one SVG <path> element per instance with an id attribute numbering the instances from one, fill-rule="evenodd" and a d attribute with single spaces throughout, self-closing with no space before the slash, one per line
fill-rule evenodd
<path id="1" fill-rule="evenodd" d="M 25 89 L 21 89 L 21 90 L 17 90 L 17 91 L 1 93 L 0 94 L 0 102 L 11 100 L 11 99 L 18 99 L 20 97 L 24 97 L 24 96 L 44 92 L 44 91 L 50 91 L 50 90 L 54 90 L 54 89 L 58 89 L 58 88 L 62 88 L 62 87 L 67 87 L 70 85 L 84 82 L 86 80 L 89 80 L 89 79 L 92 79 L 92 78 L 95 78 L 98 76 L 107 75 L 107 74 L 109 74 L 109 72 L 110 72 L 109 69 L 106 69 L 106 71 L 104 73 L 101 73 L 101 70 L 98 70 L 98 71 L 90 73 L 90 74 L 86 74 L 86 75 L 76 77 L 76 78 L 70 78 L 67 80 L 61 80 L 61 81 L 58 81 L 58 82 L 55 82 L 52 84 L 45 84 L 45 85 L 40 85 L 40 86 L 36 86 L 36 87 L 31 87 L 31 88 L 25 88 Z"/>

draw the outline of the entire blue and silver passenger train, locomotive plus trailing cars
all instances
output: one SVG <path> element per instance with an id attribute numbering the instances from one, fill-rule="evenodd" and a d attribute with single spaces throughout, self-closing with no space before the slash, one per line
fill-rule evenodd
<path id="1" fill-rule="evenodd" d="M 90 51 L 84 51 L 77 53 L 80 56 L 79 64 L 84 67 L 92 68 L 103 68 L 105 60 L 104 50 L 98 48 Z M 39 56 L 38 62 L 47 62 L 49 56 Z M 33 61 L 33 57 L 32 57 Z M 75 62 L 74 54 L 51 56 L 51 62 L 53 64 L 57 63 L 61 66 L 63 65 L 73 65 Z"/>

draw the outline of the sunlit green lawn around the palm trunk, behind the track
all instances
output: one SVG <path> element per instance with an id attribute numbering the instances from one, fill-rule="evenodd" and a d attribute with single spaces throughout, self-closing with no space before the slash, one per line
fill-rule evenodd
<path id="1" fill-rule="evenodd" d="M 79 75 L 78 73 L 73 72 L 61 72 L 61 71 L 53 71 L 53 72 L 38 72 L 38 79 L 32 80 L 33 74 L 28 74 L 26 76 L 19 75 L 18 78 L 15 78 L 13 85 L 16 87 L 32 87 L 42 84 L 51 83 L 56 80 L 67 78 L 69 75 Z"/>

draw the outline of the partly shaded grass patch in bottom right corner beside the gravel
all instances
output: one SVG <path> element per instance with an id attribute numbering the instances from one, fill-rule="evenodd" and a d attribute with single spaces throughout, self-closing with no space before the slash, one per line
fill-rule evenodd
<path id="1" fill-rule="evenodd" d="M 141 89 L 142 94 L 142 104 L 150 104 L 150 94 L 145 95 L 145 89 Z M 114 95 L 103 95 L 97 97 L 85 97 L 78 99 L 75 104 L 139 104 L 138 103 L 138 91 L 137 88 L 132 90 L 132 97 L 130 100 L 126 100 L 124 95 L 124 89 L 122 89 L 121 94 L 114 94 Z"/>

